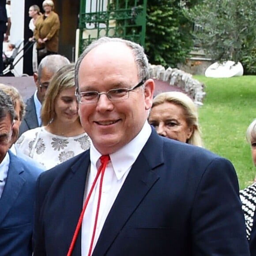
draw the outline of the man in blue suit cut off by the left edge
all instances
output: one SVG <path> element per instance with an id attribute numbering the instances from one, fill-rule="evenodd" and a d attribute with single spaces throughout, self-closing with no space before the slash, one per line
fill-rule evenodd
<path id="1" fill-rule="evenodd" d="M 41 169 L 8 151 L 15 110 L 0 90 L 0 255 L 32 255 L 35 184 Z"/>

